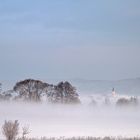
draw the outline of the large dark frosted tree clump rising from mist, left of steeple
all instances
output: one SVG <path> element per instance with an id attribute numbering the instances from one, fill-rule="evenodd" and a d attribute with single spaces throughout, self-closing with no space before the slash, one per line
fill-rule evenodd
<path id="1" fill-rule="evenodd" d="M 46 98 L 51 103 L 80 103 L 76 88 L 68 81 L 53 85 L 40 80 L 25 79 L 17 82 L 12 90 L 4 92 L 0 84 L 0 92 L 1 100 L 40 102 L 42 98 Z"/>

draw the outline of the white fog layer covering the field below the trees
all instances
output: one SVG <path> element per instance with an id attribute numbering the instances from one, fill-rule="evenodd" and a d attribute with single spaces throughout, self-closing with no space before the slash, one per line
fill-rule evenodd
<path id="1" fill-rule="evenodd" d="M 84 99 L 83 99 L 84 100 Z M 5 120 L 18 120 L 20 131 L 29 126 L 30 137 L 138 136 L 138 108 L 102 105 L 52 105 L 0 102 L 0 127 Z M 21 135 L 21 133 L 20 133 Z M 0 138 L 3 138 L 0 133 Z"/>

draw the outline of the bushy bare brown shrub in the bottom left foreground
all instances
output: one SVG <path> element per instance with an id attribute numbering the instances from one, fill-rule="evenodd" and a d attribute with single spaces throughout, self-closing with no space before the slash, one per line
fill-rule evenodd
<path id="1" fill-rule="evenodd" d="M 19 133 L 18 121 L 5 121 L 2 126 L 2 133 L 6 137 L 6 140 L 15 140 Z"/>

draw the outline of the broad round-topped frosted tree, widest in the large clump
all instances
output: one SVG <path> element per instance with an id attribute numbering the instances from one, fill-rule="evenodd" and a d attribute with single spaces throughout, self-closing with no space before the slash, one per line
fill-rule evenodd
<path id="1" fill-rule="evenodd" d="M 41 94 L 47 92 L 47 83 L 39 80 L 26 79 L 16 83 L 14 91 L 19 93 L 20 98 L 30 101 L 40 101 Z"/>

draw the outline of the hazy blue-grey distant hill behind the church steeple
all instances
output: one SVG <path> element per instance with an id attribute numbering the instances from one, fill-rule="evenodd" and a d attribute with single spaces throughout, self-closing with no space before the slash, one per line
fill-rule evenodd
<path id="1" fill-rule="evenodd" d="M 140 78 L 116 81 L 74 79 L 71 83 L 82 94 L 108 94 L 115 88 L 118 94 L 140 95 Z"/>

